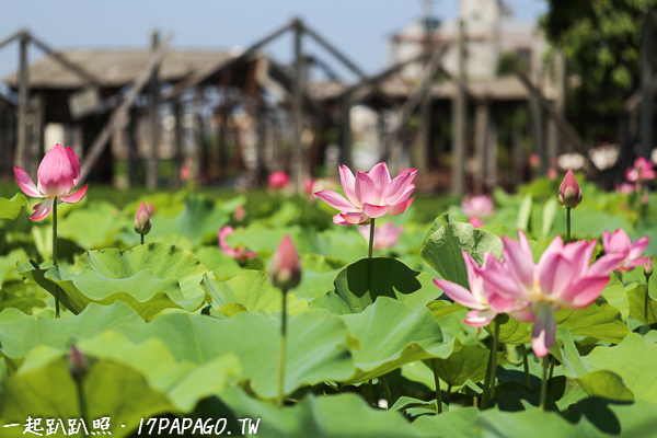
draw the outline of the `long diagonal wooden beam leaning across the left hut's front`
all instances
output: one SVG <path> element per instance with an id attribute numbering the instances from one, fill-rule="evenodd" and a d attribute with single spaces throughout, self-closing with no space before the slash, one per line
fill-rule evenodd
<path id="1" fill-rule="evenodd" d="M 93 165 L 97 161 L 99 157 L 101 157 L 101 153 L 103 153 L 103 150 L 107 146 L 107 140 L 110 139 L 110 136 L 112 135 L 115 124 L 117 122 L 119 122 L 122 119 L 122 117 L 125 116 L 128 108 L 130 106 L 132 106 L 135 99 L 137 99 L 137 95 L 141 92 L 141 90 L 143 89 L 143 87 L 146 85 L 148 80 L 150 79 L 150 77 L 153 72 L 153 69 L 162 60 L 164 53 L 169 48 L 169 43 L 171 41 L 171 37 L 172 37 L 171 34 L 169 36 L 166 36 L 166 38 L 164 38 L 164 42 L 162 42 L 162 44 L 160 44 L 158 46 L 158 49 L 151 55 L 151 57 L 148 61 L 148 65 L 139 73 L 139 77 L 137 77 L 137 80 L 135 81 L 135 84 L 132 85 L 132 89 L 130 90 L 130 92 L 124 97 L 122 103 L 114 110 L 114 112 L 110 116 L 110 120 L 103 127 L 103 129 L 101 130 L 101 134 L 99 134 L 99 136 L 93 141 L 91 148 L 89 149 L 89 152 L 84 157 L 84 161 L 82 162 L 82 165 L 80 166 L 80 182 L 84 182 L 87 180 L 87 177 L 89 176 L 89 173 L 91 172 L 91 169 L 93 168 Z"/>

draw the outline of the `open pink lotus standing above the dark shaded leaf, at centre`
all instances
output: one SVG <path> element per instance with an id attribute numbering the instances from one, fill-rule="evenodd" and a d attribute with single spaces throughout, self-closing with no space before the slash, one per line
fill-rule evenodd
<path id="1" fill-rule="evenodd" d="M 315 195 L 331 207 L 341 210 L 333 217 L 338 226 L 369 223 L 370 219 L 385 215 L 397 216 L 411 207 L 415 198 L 408 199 L 415 188 L 412 183 L 417 174 L 411 169 L 391 181 L 385 163 L 374 165 L 369 172 L 358 171 L 356 177 L 346 165 L 339 166 L 339 180 L 346 198 L 332 191 Z"/>

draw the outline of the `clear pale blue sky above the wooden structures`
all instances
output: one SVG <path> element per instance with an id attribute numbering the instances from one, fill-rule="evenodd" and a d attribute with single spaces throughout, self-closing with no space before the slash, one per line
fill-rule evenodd
<path id="1" fill-rule="evenodd" d="M 468 0 L 465 0 L 468 1 Z M 506 0 L 522 20 L 535 20 L 545 0 Z M 457 0 L 435 0 L 440 19 L 457 14 Z M 0 39 L 28 27 L 55 48 L 146 46 L 151 30 L 173 32 L 185 48 L 247 47 L 293 16 L 300 16 L 345 51 L 366 72 L 385 64 L 385 42 L 422 15 L 422 0 L 0 0 Z M 268 49 L 280 60 L 291 37 Z M 309 45 L 311 53 L 319 51 Z M 42 53 L 31 48 L 31 60 Z M 327 58 L 326 55 L 324 58 Z M 0 49 L 0 78 L 18 67 L 18 44 Z"/>

